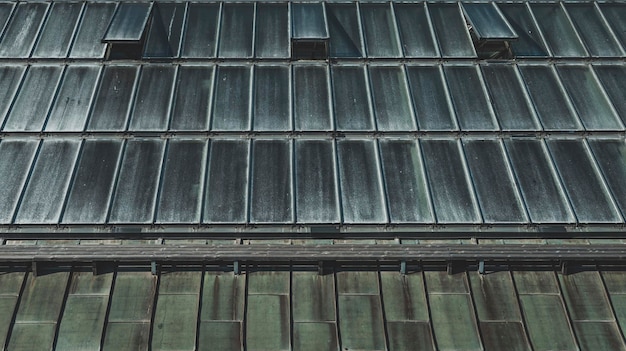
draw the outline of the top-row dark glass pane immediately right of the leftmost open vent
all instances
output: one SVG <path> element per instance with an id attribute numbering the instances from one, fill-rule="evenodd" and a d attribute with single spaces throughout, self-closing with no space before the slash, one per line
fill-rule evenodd
<path id="1" fill-rule="evenodd" d="M 145 57 L 178 57 L 185 4 L 156 3 L 146 39 Z"/>

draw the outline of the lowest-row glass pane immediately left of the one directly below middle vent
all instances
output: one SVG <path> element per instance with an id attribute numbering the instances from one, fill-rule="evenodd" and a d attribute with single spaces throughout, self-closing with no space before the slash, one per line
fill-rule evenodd
<path id="1" fill-rule="evenodd" d="M 250 222 L 292 222 L 291 143 L 255 140 L 252 147 Z"/>

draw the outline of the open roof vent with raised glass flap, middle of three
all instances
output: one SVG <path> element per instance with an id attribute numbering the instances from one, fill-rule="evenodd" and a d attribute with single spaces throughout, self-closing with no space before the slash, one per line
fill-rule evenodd
<path id="1" fill-rule="evenodd" d="M 294 3 L 291 6 L 291 58 L 328 58 L 328 24 L 323 3 Z"/>

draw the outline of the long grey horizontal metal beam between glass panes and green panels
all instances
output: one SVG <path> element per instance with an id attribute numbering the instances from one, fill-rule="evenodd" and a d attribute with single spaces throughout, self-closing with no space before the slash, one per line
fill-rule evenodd
<path id="1" fill-rule="evenodd" d="M 3 245 L 19 262 L 447 262 L 626 263 L 626 245 Z"/>

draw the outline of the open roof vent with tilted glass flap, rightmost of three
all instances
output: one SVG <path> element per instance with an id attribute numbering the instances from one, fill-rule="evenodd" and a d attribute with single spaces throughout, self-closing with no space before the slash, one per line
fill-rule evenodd
<path id="1" fill-rule="evenodd" d="M 467 28 L 479 59 L 511 59 L 519 37 L 495 3 L 462 3 Z"/>

